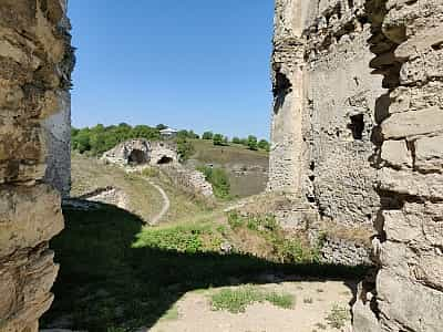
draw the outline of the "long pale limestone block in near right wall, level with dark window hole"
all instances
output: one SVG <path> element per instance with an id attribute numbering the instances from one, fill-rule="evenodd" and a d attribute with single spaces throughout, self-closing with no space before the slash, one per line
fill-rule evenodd
<path id="1" fill-rule="evenodd" d="M 385 139 L 399 139 L 443 131 L 443 110 L 431 107 L 394 113 L 381 124 Z"/>

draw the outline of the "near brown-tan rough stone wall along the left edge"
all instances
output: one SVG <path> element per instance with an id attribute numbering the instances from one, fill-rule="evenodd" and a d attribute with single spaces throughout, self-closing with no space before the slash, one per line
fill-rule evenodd
<path id="1" fill-rule="evenodd" d="M 63 228 L 44 183 L 44 128 L 65 110 L 72 63 L 65 1 L 0 2 L 0 331 L 38 331 L 58 272 L 48 241 Z M 63 97 L 64 96 L 64 97 Z"/>

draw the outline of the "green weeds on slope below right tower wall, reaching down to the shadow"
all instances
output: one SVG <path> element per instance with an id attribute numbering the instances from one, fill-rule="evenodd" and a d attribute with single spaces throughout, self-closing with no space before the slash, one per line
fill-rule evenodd
<path id="1" fill-rule="evenodd" d="M 318 250 L 297 237 L 288 237 L 274 216 L 245 217 L 238 212 L 230 212 L 228 222 L 233 230 L 247 229 L 265 239 L 270 246 L 269 255 L 272 260 L 289 263 L 319 261 Z"/>

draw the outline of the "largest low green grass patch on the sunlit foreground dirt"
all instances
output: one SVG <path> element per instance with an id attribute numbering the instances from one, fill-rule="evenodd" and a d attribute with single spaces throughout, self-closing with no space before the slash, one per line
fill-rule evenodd
<path id="1" fill-rule="evenodd" d="M 265 301 L 284 309 L 290 309 L 295 305 L 295 297 L 289 293 L 277 293 L 253 286 L 223 289 L 212 295 L 214 310 L 227 310 L 231 313 L 245 312 L 248 305 Z"/>

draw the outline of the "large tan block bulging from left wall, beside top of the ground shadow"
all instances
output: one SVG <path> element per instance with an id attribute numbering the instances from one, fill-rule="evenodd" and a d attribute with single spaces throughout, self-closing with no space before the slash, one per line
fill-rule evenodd
<path id="1" fill-rule="evenodd" d="M 0 188 L 0 257 L 35 247 L 63 229 L 61 200 L 47 185 Z"/>

